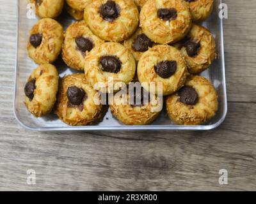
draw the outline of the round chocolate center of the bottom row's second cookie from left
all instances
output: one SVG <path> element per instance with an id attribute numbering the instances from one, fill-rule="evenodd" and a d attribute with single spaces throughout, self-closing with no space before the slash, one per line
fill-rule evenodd
<path id="1" fill-rule="evenodd" d="M 72 104 L 72 105 L 81 105 L 81 103 L 83 103 L 84 98 L 86 98 L 86 92 L 84 92 L 83 89 L 79 89 L 76 86 L 73 87 L 68 87 L 68 91 L 67 91 L 67 97 L 68 97 L 68 101 Z"/>

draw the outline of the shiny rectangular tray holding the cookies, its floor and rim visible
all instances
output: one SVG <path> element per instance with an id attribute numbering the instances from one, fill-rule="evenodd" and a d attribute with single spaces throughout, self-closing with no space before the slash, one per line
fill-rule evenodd
<path id="1" fill-rule="evenodd" d="M 109 111 L 104 120 L 97 126 L 81 126 L 72 127 L 61 122 L 53 113 L 47 117 L 35 118 L 33 117 L 24 105 L 24 85 L 29 77 L 31 71 L 36 68 L 36 64 L 29 59 L 26 45 L 28 41 L 28 33 L 31 27 L 38 19 L 27 18 L 27 0 L 19 0 L 17 8 L 17 59 L 15 66 L 15 92 L 14 92 L 14 115 L 19 123 L 26 129 L 33 131 L 81 131 L 81 130 L 146 130 L 146 129 L 170 129 L 170 130 L 207 130 L 214 129 L 223 122 L 227 114 L 227 93 L 225 82 L 225 62 L 224 62 L 224 45 L 223 45 L 223 22 L 218 17 L 218 7 L 222 0 L 214 1 L 214 10 L 211 17 L 208 18 L 202 25 L 207 27 L 216 38 L 217 54 L 216 61 L 212 64 L 211 68 L 202 73 L 202 76 L 207 77 L 214 84 L 219 95 L 219 109 L 216 116 L 203 126 L 178 126 L 168 118 L 166 112 L 163 110 L 161 115 L 155 122 L 148 126 L 124 126 L 116 120 Z M 72 23 L 72 18 L 63 13 L 58 18 L 64 28 Z M 72 73 L 61 60 L 56 62 L 60 76 Z"/>

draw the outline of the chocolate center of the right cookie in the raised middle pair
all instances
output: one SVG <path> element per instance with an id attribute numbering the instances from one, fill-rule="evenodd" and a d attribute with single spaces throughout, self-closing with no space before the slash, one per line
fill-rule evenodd
<path id="1" fill-rule="evenodd" d="M 162 78 L 169 78 L 171 77 L 176 69 L 177 69 L 177 62 L 176 61 L 161 61 L 156 66 L 154 66 L 154 69 L 159 75 L 159 77 Z"/>

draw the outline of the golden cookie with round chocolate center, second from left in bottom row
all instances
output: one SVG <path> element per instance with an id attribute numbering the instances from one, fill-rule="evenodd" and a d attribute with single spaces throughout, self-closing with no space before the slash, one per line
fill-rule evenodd
<path id="1" fill-rule="evenodd" d="M 103 119 L 108 106 L 95 103 L 97 91 L 84 74 L 65 76 L 60 82 L 56 114 L 70 126 L 93 125 Z"/>

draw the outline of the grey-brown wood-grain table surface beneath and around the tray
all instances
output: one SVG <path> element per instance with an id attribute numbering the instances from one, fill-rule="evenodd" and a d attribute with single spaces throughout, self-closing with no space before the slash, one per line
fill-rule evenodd
<path id="1" fill-rule="evenodd" d="M 256 190 L 255 0 L 225 1 L 228 115 L 204 132 L 21 128 L 12 110 L 16 3 L 0 6 L 0 190 Z M 36 185 L 27 184 L 29 169 Z"/>

